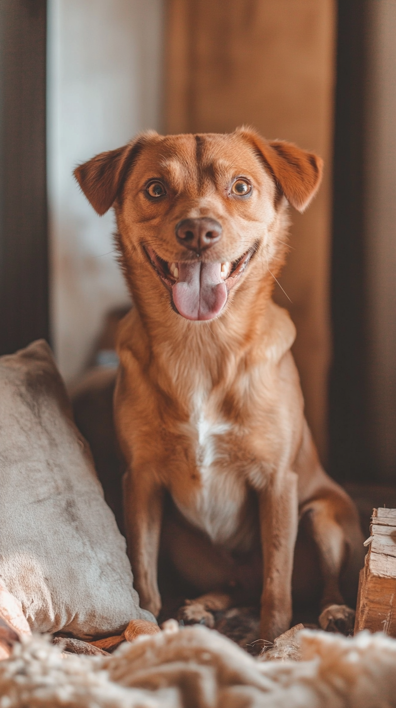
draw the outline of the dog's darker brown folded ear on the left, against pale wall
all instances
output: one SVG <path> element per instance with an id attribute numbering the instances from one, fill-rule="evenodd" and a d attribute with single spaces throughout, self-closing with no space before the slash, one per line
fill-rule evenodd
<path id="1" fill-rule="evenodd" d="M 141 152 L 147 137 L 149 136 L 146 133 L 124 147 L 101 152 L 74 170 L 74 176 L 81 190 L 100 216 L 103 216 L 114 204 L 127 173 Z"/>

